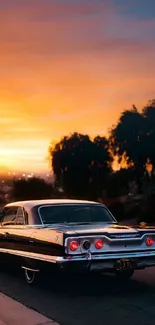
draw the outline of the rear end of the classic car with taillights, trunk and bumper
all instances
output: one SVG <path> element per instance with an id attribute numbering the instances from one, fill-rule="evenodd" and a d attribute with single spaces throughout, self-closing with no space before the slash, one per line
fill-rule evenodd
<path id="1" fill-rule="evenodd" d="M 59 268 L 74 272 L 114 272 L 129 277 L 134 270 L 155 266 L 155 230 L 119 225 L 76 226 L 64 234 L 65 254 Z"/>

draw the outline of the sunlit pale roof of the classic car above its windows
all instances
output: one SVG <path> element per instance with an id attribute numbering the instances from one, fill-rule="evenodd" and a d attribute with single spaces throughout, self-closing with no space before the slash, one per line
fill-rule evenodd
<path id="1" fill-rule="evenodd" d="M 52 205 L 52 204 L 98 204 L 99 202 L 94 201 L 87 201 L 87 200 L 73 200 L 73 199 L 49 199 L 49 200 L 29 200 L 29 201 L 17 201 L 17 202 L 11 202 L 5 205 L 5 207 L 9 206 L 21 206 L 28 209 L 32 209 L 35 206 L 39 205 Z"/>

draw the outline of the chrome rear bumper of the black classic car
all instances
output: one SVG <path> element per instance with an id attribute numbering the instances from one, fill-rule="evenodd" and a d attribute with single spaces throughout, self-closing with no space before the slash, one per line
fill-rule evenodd
<path id="1" fill-rule="evenodd" d="M 58 265 L 59 270 L 66 272 L 115 271 L 116 263 L 119 261 L 130 262 L 130 266 L 132 266 L 134 270 L 155 266 L 155 251 L 98 255 L 89 254 L 85 256 L 73 256 L 72 258 L 56 258 L 56 264 Z"/>

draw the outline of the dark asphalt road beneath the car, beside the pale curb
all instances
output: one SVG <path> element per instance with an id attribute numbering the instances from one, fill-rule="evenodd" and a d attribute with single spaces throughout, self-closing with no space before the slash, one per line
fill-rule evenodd
<path id="1" fill-rule="evenodd" d="M 17 274 L 0 273 L 0 291 L 61 325 L 155 324 L 155 268 L 137 271 L 126 285 L 112 275 L 92 282 L 29 287 Z"/>

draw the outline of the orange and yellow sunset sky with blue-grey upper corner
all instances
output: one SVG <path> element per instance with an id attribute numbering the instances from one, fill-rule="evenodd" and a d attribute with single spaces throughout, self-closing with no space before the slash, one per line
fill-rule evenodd
<path id="1" fill-rule="evenodd" d="M 1 170 L 48 171 L 51 141 L 153 98 L 154 0 L 0 0 Z"/>

